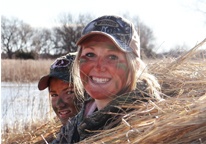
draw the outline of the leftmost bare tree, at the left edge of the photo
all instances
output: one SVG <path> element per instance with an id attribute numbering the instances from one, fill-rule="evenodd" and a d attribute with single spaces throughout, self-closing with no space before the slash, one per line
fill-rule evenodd
<path id="1" fill-rule="evenodd" d="M 1 17 L 1 49 L 8 58 L 16 51 L 31 50 L 33 29 L 26 23 L 16 19 Z"/>

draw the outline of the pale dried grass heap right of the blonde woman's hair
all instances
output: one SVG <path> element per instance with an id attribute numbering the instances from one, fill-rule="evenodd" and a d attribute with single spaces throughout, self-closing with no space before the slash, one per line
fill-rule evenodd
<path id="1" fill-rule="evenodd" d="M 200 52 L 205 54 L 206 51 L 196 51 L 205 43 L 206 39 L 176 60 L 167 58 L 148 64 L 150 72 L 159 80 L 164 94 L 178 97 L 199 96 L 205 93 L 206 56 L 198 56 Z"/>

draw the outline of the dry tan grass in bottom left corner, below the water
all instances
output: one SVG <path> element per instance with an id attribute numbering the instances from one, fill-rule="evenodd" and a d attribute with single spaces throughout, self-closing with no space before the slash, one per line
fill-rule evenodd
<path id="1" fill-rule="evenodd" d="M 1 143 L 45 143 L 43 137 L 48 142 L 56 138 L 61 122 L 56 117 L 53 120 L 45 123 L 45 120 L 39 119 L 32 123 L 31 129 L 20 129 L 11 132 L 3 131 L 1 134 Z M 29 123 L 27 125 L 30 125 Z"/>

